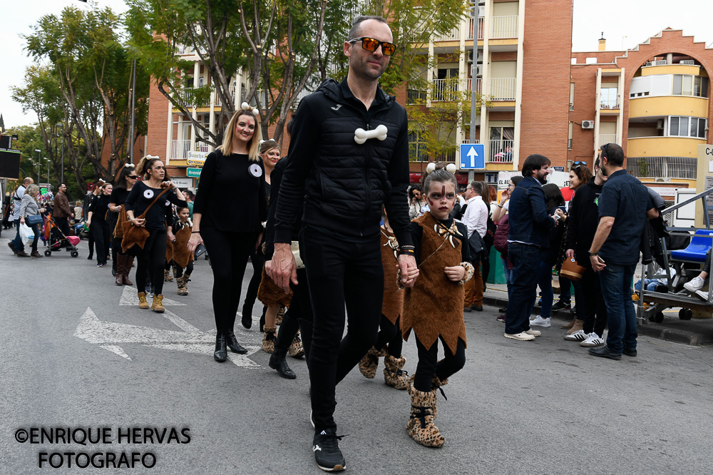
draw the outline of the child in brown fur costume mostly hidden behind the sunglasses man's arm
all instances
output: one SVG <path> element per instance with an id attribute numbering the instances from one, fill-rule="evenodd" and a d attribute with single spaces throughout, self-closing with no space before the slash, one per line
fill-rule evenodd
<path id="1" fill-rule="evenodd" d="M 381 206 L 381 265 L 384 266 L 384 300 L 381 303 L 381 323 L 376 343 L 359 362 L 359 371 L 369 379 L 376 376 L 379 357 L 384 357 L 384 382 L 396 389 L 406 389 L 406 358 L 401 354 L 399 318 L 404 310 L 404 290 L 399 287 L 399 242 L 389 226 L 386 209 Z"/>

